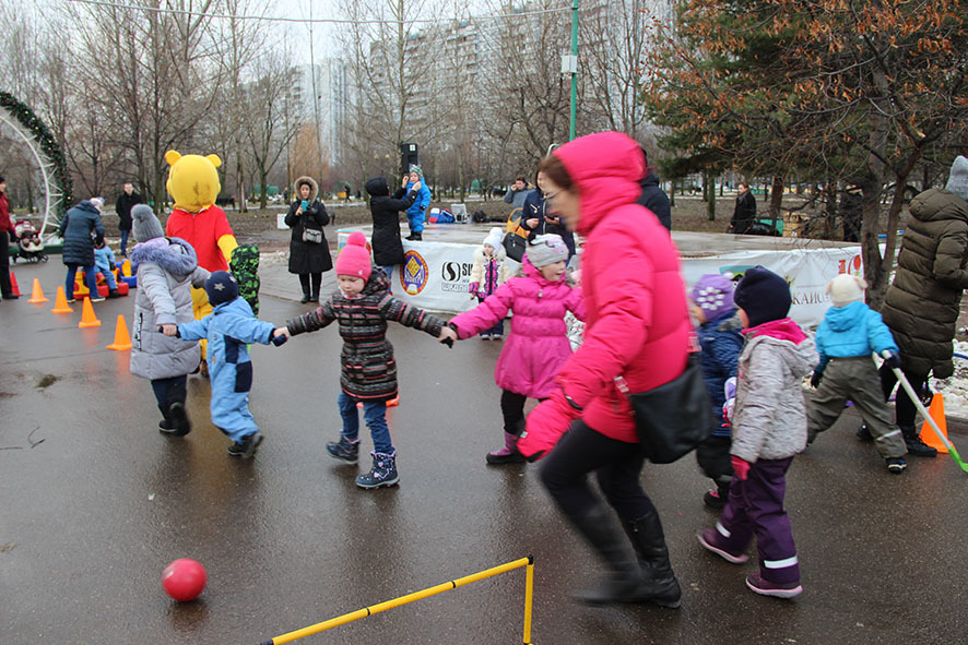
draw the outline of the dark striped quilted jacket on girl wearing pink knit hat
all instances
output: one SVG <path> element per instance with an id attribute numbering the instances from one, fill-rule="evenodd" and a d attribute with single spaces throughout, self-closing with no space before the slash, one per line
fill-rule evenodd
<path id="1" fill-rule="evenodd" d="M 397 396 L 397 361 L 387 341 L 387 321 L 440 335 L 445 321 L 390 295 L 390 280 L 374 266 L 363 292 L 350 299 L 339 291 L 315 311 L 286 323 L 290 334 L 315 332 L 339 322 L 343 337 L 340 385 L 359 401 L 390 401 Z"/>

